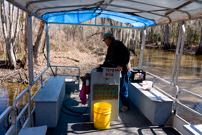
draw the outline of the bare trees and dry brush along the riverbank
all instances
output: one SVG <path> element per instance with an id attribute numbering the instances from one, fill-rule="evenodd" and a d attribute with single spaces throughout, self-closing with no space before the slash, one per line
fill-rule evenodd
<path id="1" fill-rule="evenodd" d="M 28 83 L 28 14 L 12 4 L 1 3 L 0 25 L 0 81 Z M 97 19 L 97 24 L 129 26 L 109 19 Z M 94 21 L 88 21 L 94 23 Z M 186 37 L 184 51 L 202 54 L 201 19 L 184 22 Z M 34 73 L 37 76 L 47 65 L 45 22 L 32 18 Z M 179 23 L 170 23 L 147 28 L 146 46 L 175 49 L 179 34 Z M 141 45 L 142 30 L 79 25 L 49 25 L 50 63 L 52 65 L 75 65 L 87 70 L 104 61 L 106 46 L 102 41 L 105 32 L 112 32 L 116 39 L 135 54 Z M 13 79 L 14 78 L 14 79 Z"/>

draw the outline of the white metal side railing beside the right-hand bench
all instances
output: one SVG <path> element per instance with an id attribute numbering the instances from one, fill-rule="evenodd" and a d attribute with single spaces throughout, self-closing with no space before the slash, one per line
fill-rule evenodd
<path id="1" fill-rule="evenodd" d="M 192 113 L 194 113 L 194 114 L 202 117 L 201 113 L 199 113 L 199 112 L 195 111 L 194 109 L 186 106 L 185 104 L 183 104 L 182 102 L 180 102 L 180 99 L 179 99 L 180 98 L 180 93 L 182 91 L 185 92 L 185 93 L 187 93 L 187 94 L 190 94 L 192 96 L 195 96 L 197 98 L 200 98 L 200 99 L 202 99 L 202 96 L 200 96 L 198 94 L 195 94 L 193 92 L 190 92 L 190 91 L 188 91 L 186 89 L 180 89 L 178 85 L 173 85 L 172 82 L 169 82 L 169 81 L 167 81 L 167 80 L 165 80 L 163 78 L 160 78 L 160 77 L 158 77 L 158 76 L 156 76 L 156 75 L 154 75 L 154 74 L 152 74 L 152 73 L 150 73 L 148 71 L 146 71 L 146 73 L 147 73 L 147 75 L 152 76 L 153 80 L 158 79 L 158 80 L 160 80 L 160 81 L 162 81 L 162 82 L 164 82 L 164 83 L 166 83 L 168 85 L 171 85 L 171 86 L 175 87 L 175 89 L 176 89 L 176 95 L 175 95 L 175 97 L 173 97 L 172 95 L 168 94 L 167 92 L 165 92 L 161 88 L 157 87 L 156 85 L 153 85 L 154 88 L 156 88 L 158 91 L 160 91 L 161 93 L 165 94 L 166 96 L 168 96 L 169 98 L 171 98 L 174 101 L 174 106 L 173 106 L 173 110 L 172 110 L 173 113 L 174 113 L 174 115 L 177 115 L 177 111 L 179 109 L 179 105 L 181 105 L 183 108 L 185 108 L 185 109 L 191 111 Z"/>

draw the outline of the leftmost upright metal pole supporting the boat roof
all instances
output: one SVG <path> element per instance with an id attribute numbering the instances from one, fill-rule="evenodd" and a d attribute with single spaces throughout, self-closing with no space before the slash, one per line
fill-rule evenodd
<path id="1" fill-rule="evenodd" d="M 34 80 L 34 72 L 33 72 L 33 45 L 32 45 L 32 16 L 28 15 L 28 67 L 29 67 L 29 85 L 32 85 Z"/>

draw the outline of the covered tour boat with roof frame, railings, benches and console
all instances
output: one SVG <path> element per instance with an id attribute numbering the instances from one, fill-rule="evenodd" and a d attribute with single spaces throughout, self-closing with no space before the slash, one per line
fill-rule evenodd
<path id="1" fill-rule="evenodd" d="M 201 95 L 180 88 L 178 74 L 183 53 L 185 26 L 184 21 L 202 17 L 201 0 L 7 0 L 28 12 L 28 67 L 29 87 L 14 100 L 13 105 L 0 115 L 0 122 L 11 114 L 11 126 L 6 135 L 65 135 L 65 134 L 202 134 L 202 124 L 190 124 L 178 115 L 179 109 L 191 112 L 202 119 L 201 112 L 186 106 L 180 101 L 181 93 L 202 99 Z M 39 76 L 33 75 L 32 17 L 46 22 L 47 67 Z M 84 22 L 93 19 L 94 24 Z M 110 26 L 97 24 L 96 18 L 108 18 L 131 24 L 128 26 Z M 142 69 L 145 47 L 146 28 L 179 22 L 179 37 L 171 81 Z M 90 87 L 86 96 L 86 105 L 81 105 L 79 97 L 80 69 L 76 66 L 51 65 L 49 50 L 49 24 L 69 24 L 82 26 L 142 29 L 142 42 L 138 69 L 133 68 L 130 77 L 130 110 L 119 112 L 119 78 L 120 72 L 105 67 L 102 71 L 94 68 L 85 76 Z M 48 69 L 52 70 L 43 78 Z M 61 73 L 61 69 L 71 69 L 71 74 Z M 143 90 L 137 74 L 146 75 L 146 80 L 153 82 L 150 91 Z M 163 86 L 172 87 L 176 93 L 172 96 L 159 88 L 155 80 Z M 31 96 L 32 86 L 40 82 L 38 90 Z M 87 93 L 86 93 L 87 94 Z M 17 102 L 27 96 L 27 103 L 17 113 Z M 85 99 L 85 94 L 83 95 Z M 83 99 L 82 99 L 83 102 Z M 109 103 L 112 109 L 108 113 L 96 110 L 94 104 Z M 106 105 L 105 105 L 106 106 Z M 98 106 L 99 108 L 99 106 Z M 97 112 L 96 112 L 97 111 Z M 19 127 L 19 119 L 27 113 L 26 121 Z M 111 118 L 108 118 L 110 116 Z M 106 115 L 106 117 L 104 116 Z M 101 117 L 95 118 L 95 117 Z M 95 119 L 95 122 L 94 122 Z M 103 120 L 103 119 L 106 119 Z M 100 122 L 101 121 L 101 122 Z M 107 130 L 99 126 L 109 124 Z M 94 127 L 94 124 L 95 125 Z"/>

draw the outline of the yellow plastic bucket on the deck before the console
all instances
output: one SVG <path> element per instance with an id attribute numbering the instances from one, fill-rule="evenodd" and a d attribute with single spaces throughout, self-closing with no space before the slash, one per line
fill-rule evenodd
<path id="1" fill-rule="evenodd" d="M 112 105 L 104 102 L 94 104 L 94 127 L 97 129 L 108 129 Z"/>

